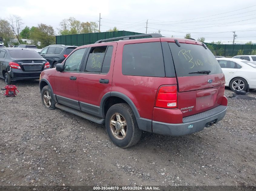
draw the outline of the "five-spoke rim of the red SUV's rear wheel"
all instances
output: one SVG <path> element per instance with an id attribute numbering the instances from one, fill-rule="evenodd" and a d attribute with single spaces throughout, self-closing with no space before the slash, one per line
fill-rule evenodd
<path id="1" fill-rule="evenodd" d="M 114 113 L 110 118 L 110 130 L 118 140 L 125 138 L 127 134 L 127 124 L 125 118 L 120 113 Z"/>

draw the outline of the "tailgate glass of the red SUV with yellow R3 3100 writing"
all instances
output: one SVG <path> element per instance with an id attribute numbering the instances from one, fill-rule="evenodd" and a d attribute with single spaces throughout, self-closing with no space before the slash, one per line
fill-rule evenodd
<path id="1" fill-rule="evenodd" d="M 211 74 L 221 74 L 222 70 L 214 55 L 201 45 L 169 43 L 177 77 L 198 76 L 206 74 L 189 74 L 210 70 Z"/>

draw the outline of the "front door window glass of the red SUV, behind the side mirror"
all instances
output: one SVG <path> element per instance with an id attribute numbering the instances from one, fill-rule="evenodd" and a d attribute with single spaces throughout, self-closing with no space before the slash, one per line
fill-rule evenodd
<path id="1" fill-rule="evenodd" d="M 81 62 L 87 48 L 81 48 L 73 52 L 65 61 L 64 71 L 79 72 L 81 70 Z"/>

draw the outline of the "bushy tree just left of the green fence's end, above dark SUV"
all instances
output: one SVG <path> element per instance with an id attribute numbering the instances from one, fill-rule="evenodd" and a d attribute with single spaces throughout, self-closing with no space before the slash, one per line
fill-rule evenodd
<path id="1" fill-rule="evenodd" d="M 38 24 L 38 27 L 31 32 L 30 37 L 34 41 L 39 41 L 41 47 L 55 43 L 55 32 L 51 25 Z"/>

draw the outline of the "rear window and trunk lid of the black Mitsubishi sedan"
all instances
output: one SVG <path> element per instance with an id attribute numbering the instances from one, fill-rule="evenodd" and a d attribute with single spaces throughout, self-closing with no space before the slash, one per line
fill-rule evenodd
<path id="1" fill-rule="evenodd" d="M 14 62 L 20 65 L 23 71 L 42 71 L 47 62 L 40 54 L 30 49 L 15 49 L 9 51 Z"/>

